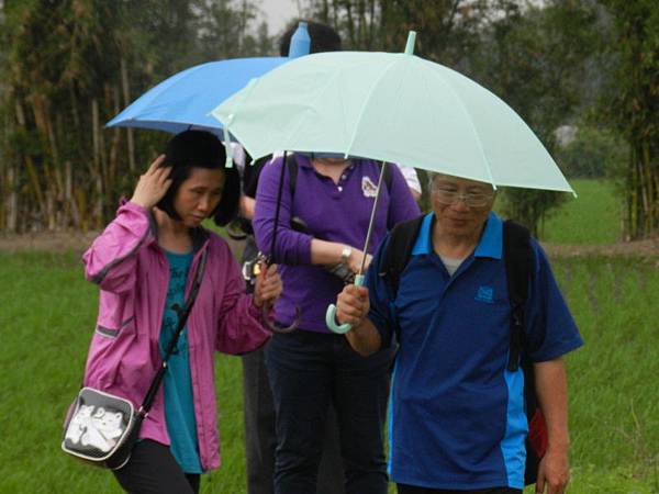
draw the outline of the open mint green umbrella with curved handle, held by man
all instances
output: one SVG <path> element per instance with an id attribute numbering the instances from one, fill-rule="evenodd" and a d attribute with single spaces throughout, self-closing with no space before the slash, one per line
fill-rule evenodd
<path id="1" fill-rule="evenodd" d="M 254 79 L 212 115 L 255 158 L 277 150 L 339 153 L 493 188 L 573 193 L 513 109 L 471 79 L 414 56 L 414 38 L 410 33 L 402 54 L 331 52 L 298 58 Z M 356 283 L 361 281 L 359 276 Z M 349 330 L 336 327 L 333 311 L 327 324 L 337 333 Z"/>

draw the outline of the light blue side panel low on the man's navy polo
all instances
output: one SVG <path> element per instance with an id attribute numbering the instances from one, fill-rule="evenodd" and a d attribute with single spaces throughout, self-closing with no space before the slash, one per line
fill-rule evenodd
<path id="1" fill-rule="evenodd" d="M 507 386 L 507 414 L 505 437 L 501 441 L 501 453 L 505 463 L 509 486 L 524 489 L 524 467 L 526 464 L 525 439 L 528 422 L 524 412 L 524 371 L 504 371 Z"/>

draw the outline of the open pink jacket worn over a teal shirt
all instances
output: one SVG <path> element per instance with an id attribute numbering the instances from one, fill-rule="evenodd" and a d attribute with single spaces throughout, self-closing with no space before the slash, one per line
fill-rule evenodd
<path id="1" fill-rule="evenodd" d="M 199 453 L 204 470 L 220 465 L 213 353 L 243 353 L 263 346 L 270 333 L 245 293 L 228 246 L 217 235 L 196 231 L 194 258 L 186 300 L 200 255 L 205 270 L 187 330 Z M 138 407 L 161 360 L 158 337 L 169 283 L 169 267 L 157 244 L 155 223 L 143 207 L 127 202 L 85 252 L 86 278 L 101 288 L 97 328 L 85 385 L 131 400 Z M 139 436 L 169 445 L 163 388 Z"/>

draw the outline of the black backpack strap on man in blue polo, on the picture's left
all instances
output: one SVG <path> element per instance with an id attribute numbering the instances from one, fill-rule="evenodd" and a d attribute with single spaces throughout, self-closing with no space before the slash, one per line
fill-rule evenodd
<path id="1" fill-rule="evenodd" d="M 387 281 L 394 295 L 398 293 L 401 274 L 412 255 L 423 218 L 424 215 L 421 215 L 414 220 L 399 223 L 389 234 L 389 243 L 382 252 L 379 274 Z"/>

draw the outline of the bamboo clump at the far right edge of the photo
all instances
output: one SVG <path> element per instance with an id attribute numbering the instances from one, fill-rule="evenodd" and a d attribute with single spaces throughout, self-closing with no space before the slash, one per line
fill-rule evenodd
<path id="1" fill-rule="evenodd" d="M 601 0 L 613 24 L 613 72 L 601 111 L 629 145 L 626 232 L 659 231 L 659 10 L 654 0 Z"/>

